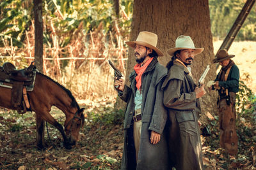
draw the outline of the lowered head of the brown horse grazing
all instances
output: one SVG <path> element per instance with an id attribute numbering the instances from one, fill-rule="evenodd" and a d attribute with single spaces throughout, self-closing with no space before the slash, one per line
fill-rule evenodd
<path id="1" fill-rule="evenodd" d="M 78 140 L 79 130 L 84 125 L 84 108 L 78 109 L 74 117 L 65 121 L 64 127 L 69 145 L 76 145 Z"/>

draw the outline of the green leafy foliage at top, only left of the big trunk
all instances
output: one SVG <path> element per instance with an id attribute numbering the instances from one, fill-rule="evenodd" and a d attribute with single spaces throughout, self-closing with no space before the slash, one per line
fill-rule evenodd
<path id="1" fill-rule="evenodd" d="M 0 3 L 0 37 L 8 39 L 15 46 L 22 47 L 26 31 L 32 24 L 32 0 L 8 0 Z M 121 34 L 129 34 L 132 15 L 132 1 L 121 1 L 122 16 L 116 18 L 111 0 L 45 0 L 43 1 L 44 43 L 52 46 L 54 39 L 51 34 L 56 33 L 61 38 L 61 46 L 70 43 L 74 32 L 83 25 L 83 34 L 90 39 L 90 32 L 102 25 L 104 34 L 115 31 L 115 25 L 120 27 Z M 56 29 L 52 30 L 52 27 Z M 3 43 L 0 43 L 3 46 Z"/>

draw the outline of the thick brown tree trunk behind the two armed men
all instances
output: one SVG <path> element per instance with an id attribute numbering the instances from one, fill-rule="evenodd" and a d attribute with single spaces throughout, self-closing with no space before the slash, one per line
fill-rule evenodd
<path id="1" fill-rule="evenodd" d="M 136 40 L 140 31 L 157 34 L 157 47 L 164 53 L 164 57 L 159 57 L 159 62 L 164 66 L 171 59 L 166 51 L 168 48 L 175 47 L 175 39 L 180 35 L 190 36 L 195 47 L 205 48 L 204 52 L 196 55 L 191 66 L 193 78 L 198 81 L 205 67 L 211 64 L 205 83 L 214 80 L 216 66 L 212 64 L 214 53 L 208 0 L 134 0 L 130 39 Z M 132 48 L 129 48 L 128 57 L 125 79 L 127 85 L 129 85 L 127 79 L 129 73 L 136 64 Z M 203 113 L 202 122 L 206 122 L 205 113 L 207 111 L 212 115 L 216 113 L 216 98 L 216 93 L 209 93 L 207 90 L 207 94 L 200 99 Z M 120 103 L 118 104 L 120 107 Z"/>

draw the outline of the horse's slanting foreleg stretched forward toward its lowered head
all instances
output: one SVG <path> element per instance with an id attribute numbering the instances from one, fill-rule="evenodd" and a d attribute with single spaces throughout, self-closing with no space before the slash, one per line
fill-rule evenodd
<path id="1" fill-rule="evenodd" d="M 45 121 L 49 122 L 49 124 L 51 125 L 54 125 L 54 127 L 56 127 L 60 132 L 61 132 L 61 135 L 64 139 L 63 141 L 63 145 L 66 149 L 71 149 L 71 145 L 70 145 L 70 142 L 64 132 L 64 129 L 62 127 L 61 124 L 59 124 L 53 117 L 52 115 L 49 113 L 49 111 L 37 111 L 38 115 L 40 115 L 40 117 L 42 117 Z M 37 114 L 36 113 L 36 114 Z"/>

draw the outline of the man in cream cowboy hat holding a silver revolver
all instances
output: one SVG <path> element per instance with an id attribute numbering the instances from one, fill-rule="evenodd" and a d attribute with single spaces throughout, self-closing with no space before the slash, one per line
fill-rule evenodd
<path id="1" fill-rule="evenodd" d="M 203 169 L 202 146 L 198 119 L 201 108 L 198 98 L 204 96 L 204 85 L 197 87 L 188 66 L 204 48 L 195 48 L 189 36 L 179 36 L 175 48 L 167 53 L 168 76 L 163 82 L 164 106 L 168 108 L 168 148 L 170 160 L 177 170 Z"/>

